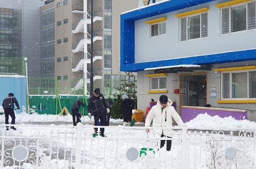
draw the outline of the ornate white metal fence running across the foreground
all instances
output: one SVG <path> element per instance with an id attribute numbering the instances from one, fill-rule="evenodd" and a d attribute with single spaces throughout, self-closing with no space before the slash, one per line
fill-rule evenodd
<path id="1" fill-rule="evenodd" d="M 93 137 L 90 125 L 15 126 L 0 125 L 0 168 L 256 168 L 256 129 L 184 126 L 166 138 L 154 127 L 105 127 L 106 137 Z M 167 139 L 170 151 L 160 149 Z"/>

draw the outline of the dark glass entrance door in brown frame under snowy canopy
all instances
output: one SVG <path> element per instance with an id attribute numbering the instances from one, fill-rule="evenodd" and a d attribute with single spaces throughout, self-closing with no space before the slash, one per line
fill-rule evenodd
<path id="1" fill-rule="evenodd" d="M 206 74 L 180 76 L 180 105 L 204 106 L 206 101 Z"/>

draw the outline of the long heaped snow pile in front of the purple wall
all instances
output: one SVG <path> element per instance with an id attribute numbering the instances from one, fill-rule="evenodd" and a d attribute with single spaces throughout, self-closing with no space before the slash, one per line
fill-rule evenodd
<path id="1" fill-rule="evenodd" d="M 207 114 L 200 114 L 195 119 L 185 123 L 185 125 L 194 128 L 256 128 L 256 123 L 249 120 L 236 120 L 231 116 L 227 118 L 212 117 Z"/>

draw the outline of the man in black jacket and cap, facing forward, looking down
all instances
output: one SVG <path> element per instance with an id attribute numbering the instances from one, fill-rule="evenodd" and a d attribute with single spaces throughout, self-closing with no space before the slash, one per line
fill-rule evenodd
<path id="1" fill-rule="evenodd" d="M 91 116 L 94 116 L 94 125 L 98 126 L 99 120 L 100 125 L 105 126 L 106 125 L 106 115 L 105 113 L 109 113 L 110 109 L 108 105 L 105 102 L 104 96 L 100 93 L 100 89 L 96 88 L 94 90 L 93 95 L 89 98 L 88 103 L 88 110 L 89 114 L 88 116 L 91 118 Z M 95 132 L 97 133 L 98 128 L 94 128 Z M 104 137 L 104 128 L 100 128 L 100 135 Z"/>

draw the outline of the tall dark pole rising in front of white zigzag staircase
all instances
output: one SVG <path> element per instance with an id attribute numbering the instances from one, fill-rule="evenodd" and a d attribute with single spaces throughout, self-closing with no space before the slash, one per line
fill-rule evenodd
<path id="1" fill-rule="evenodd" d="M 90 67 L 90 96 L 93 95 L 93 0 L 91 0 L 91 67 Z"/>

